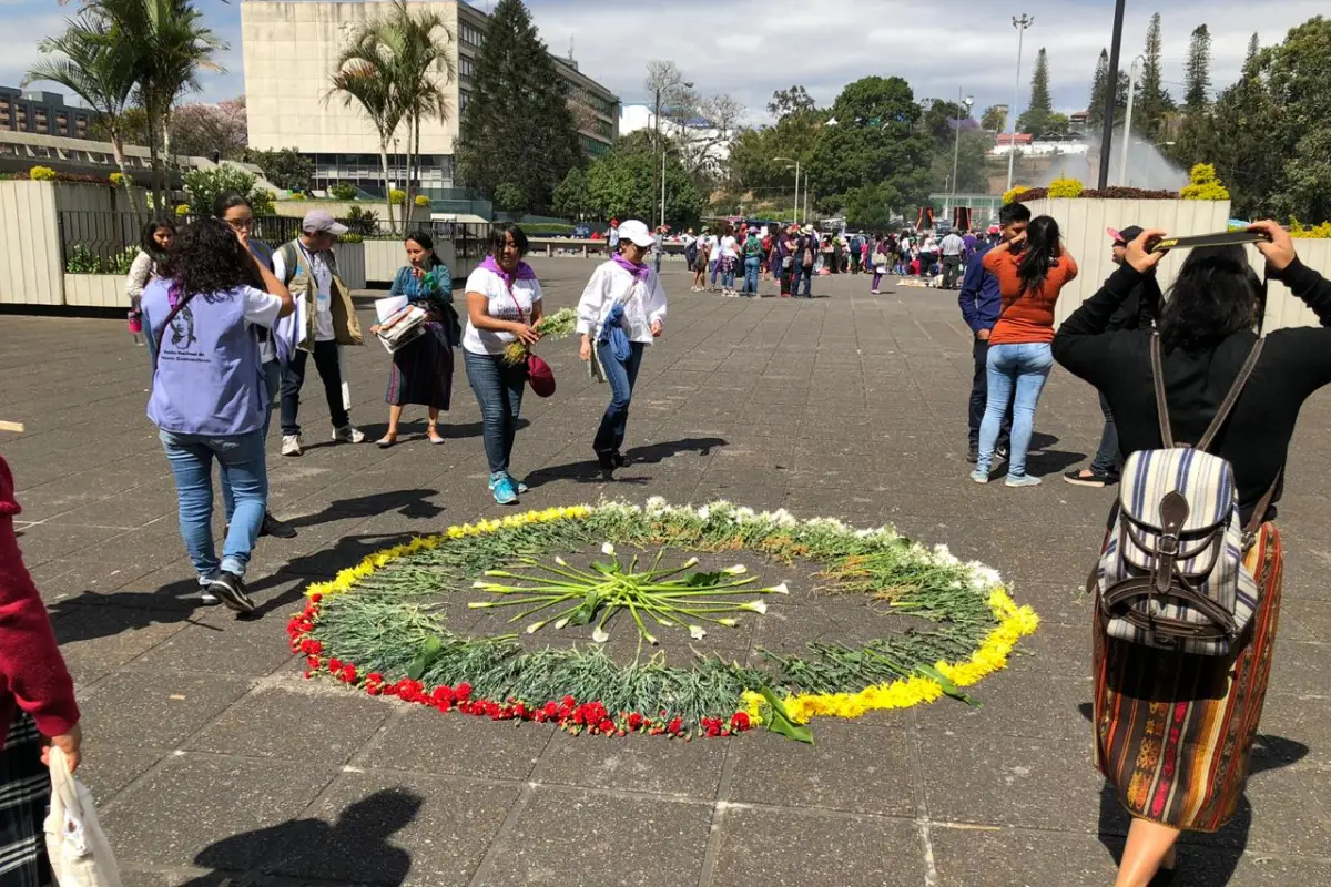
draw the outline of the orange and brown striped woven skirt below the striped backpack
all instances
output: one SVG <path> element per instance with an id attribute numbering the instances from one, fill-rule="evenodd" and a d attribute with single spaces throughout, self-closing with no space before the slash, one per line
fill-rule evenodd
<path id="1" fill-rule="evenodd" d="M 1095 763 L 1135 818 L 1217 831 L 1238 810 L 1280 616 L 1274 524 L 1262 527 L 1246 565 L 1262 597 L 1247 641 L 1229 657 L 1119 641 L 1095 614 Z"/>

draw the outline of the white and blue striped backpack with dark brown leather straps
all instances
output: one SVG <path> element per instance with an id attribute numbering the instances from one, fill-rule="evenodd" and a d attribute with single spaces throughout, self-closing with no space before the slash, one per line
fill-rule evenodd
<path id="1" fill-rule="evenodd" d="M 1110 637 L 1201 656 L 1229 656 L 1258 605 L 1258 582 L 1243 565 L 1275 495 L 1262 496 L 1239 524 L 1238 488 L 1215 440 L 1262 355 L 1256 340 L 1215 419 L 1195 447 L 1175 444 L 1165 400 L 1159 334 L 1151 375 L 1163 449 L 1134 452 L 1123 465 L 1109 541 L 1091 574 Z"/>

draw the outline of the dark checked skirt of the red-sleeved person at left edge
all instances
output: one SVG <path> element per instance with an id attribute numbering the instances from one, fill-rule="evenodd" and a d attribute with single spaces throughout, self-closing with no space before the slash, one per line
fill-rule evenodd
<path id="1" fill-rule="evenodd" d="M 0 887 L 52 883 L 43 834 L 49 802 L 51 774 L 41 763 L 37 725 L 19 711 L 0 751 Z"/>

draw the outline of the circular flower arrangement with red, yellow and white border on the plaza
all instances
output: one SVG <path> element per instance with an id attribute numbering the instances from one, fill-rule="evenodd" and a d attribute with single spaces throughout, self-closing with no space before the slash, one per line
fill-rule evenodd
<path id="1" fill-rule="evenodd" d="M 588 547 L 606 560 L 564 559 Z M 680 565 L 677 551 L 817 564 L 824 590 L 878 602 L 913 625 L 861 644 L 809 642 L 797 654 L 759 648 L 747 664 L 700 653 L 692 668 L 667 665 L 662 654 L 616 664 L 602 648 L 616 616 L 615 625 L 632 622 L 640 644 L 655 645 L 654 632 L 701 640 L 789 593 L 785 582 L 755 588 L 743 564 L 689 572 L 697 559 Z M 890 528 L 662 499 L 451 527 L 371 555 L 306 596 L 287 626 L 306 677 L 327 674 L 439 711 L 603 735 L 716 737 L 767 725 L 811 741 L 805 725 L 815 717 L 856 718 L 942 696 L 970 702 L 962 688 L 1005 668 L 1040 622 L 994 570 Z M 594 644 L 530 649 L 522 634 L 465 637 L 442 613 L 463 596 L 474 598 L 470 610 L 534 620 L 519 626 L 528 636 L 588 626 Z"/>

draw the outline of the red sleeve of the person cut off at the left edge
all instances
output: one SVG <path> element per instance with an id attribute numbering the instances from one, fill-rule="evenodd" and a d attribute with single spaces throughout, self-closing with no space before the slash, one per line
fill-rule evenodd
<path id="1" fill-rule="evenodd" d="M 23 565 L 13 535 L 19 511 L 13 475 L 0 459 L 0 699 L 13 696 L 43 735 L 63 735 L 79 723 L 79 703 L 47 608 Z"/>

